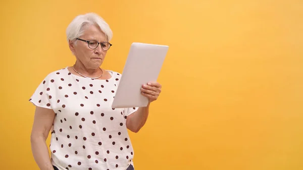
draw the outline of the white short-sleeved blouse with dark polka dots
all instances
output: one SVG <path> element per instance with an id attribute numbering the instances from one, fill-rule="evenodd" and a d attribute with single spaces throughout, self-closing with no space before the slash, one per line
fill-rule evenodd
<path id="1" fill-rule="evenodd" d="M 113 170 L 133 165 L 127 116 L 138 108 L 112 108 L 121 74 L 107 80 L 71 74 L 66 68 L 49 73 L 29 99 L 53 109 L 51 158 L 60 170 Z"/>

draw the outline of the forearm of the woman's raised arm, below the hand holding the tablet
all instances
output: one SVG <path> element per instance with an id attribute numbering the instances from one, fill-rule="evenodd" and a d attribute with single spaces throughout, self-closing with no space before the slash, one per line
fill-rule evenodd
<path id="1" fill-rule="evenodd" d="M 138 132 L 146 123 L 149 114 L 149 103 L 146 107 L 139 107 L 137 111 L 128 116 L 126 126 L 132 132 Z"/>

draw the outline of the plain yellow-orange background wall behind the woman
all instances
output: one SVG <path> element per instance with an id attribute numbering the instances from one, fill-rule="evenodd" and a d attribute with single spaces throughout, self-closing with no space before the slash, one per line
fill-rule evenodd
<path id="1" fill-rule="evenodd" d="M 136 170 L 303 169 L 301 0 L 1 1 L 1 169 L 38 170 L 28 99 L 74 64 L 65 30 L 87 12 L 114 32 L 105 69 L 122 72 L 132 42 L 170 46 L 130 133 Z"/>

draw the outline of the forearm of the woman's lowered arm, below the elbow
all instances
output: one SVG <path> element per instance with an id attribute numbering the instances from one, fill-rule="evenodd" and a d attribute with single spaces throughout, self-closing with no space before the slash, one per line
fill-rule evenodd
<path id="1" fill-rule="evenodd" d="M 43 136 L 31 137 L 31 148 L 34 159 L 40 170 L 54 170 Z"/>

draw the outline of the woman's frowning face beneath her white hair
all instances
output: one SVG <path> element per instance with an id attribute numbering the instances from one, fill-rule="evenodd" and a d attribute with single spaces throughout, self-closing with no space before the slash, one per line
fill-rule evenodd
<path id="1" fill-rule="evenodd" d="M 98 42 L 106 42 L 107 38 L 105 34 L 95 25 L 87 27 L 84 34 L 79 37 L 83 40 L 96 40 Z M 70 49 L 74 53 L 78 62 L 81 62 L 86 69 L 97 69 L 100 67 L 105 59 L 107 51 L 102 49 L 102 44 L 99 44 L 97 48 L 91 49 L 88 47 L 87 42 L 77 40 L 74 44 L 70 41 Z"/>

